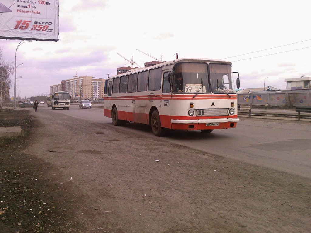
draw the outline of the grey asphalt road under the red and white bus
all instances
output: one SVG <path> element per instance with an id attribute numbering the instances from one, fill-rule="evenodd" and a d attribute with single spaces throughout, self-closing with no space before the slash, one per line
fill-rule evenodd
<path id="1" fill-rule="evenodd" d="M 46 105 L 40 105 L 39 110 L 57 111 L 59 114 L 75 117 L 79 121 L 108 124 L 111 127 L 136 131 L 141 135 L 154 136 L 150 127 L 146 125 L 137 123 L 128 123 L 126 126 L 112 125 L 111 118 L 104 117 L 103 109 L 95 106 L 91 109 L 79 109 L 79 105 L 72 104 L 68 111 L 52 110 Z M 241 117 L 234 129 L 214 130 L 208 135 L 200 131 L 174 130 L 165 139 L 201 150 L 203 153 L 234 158 L 310 179 L 310 126 L 310 122 Z"/>

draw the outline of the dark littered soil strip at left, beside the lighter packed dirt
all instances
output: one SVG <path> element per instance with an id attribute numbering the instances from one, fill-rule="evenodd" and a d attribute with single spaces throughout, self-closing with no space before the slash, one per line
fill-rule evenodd
<path id="1" fill-rule="evenodd" d="M 35 128 L 42 124 L 29 111 L 16 110 L 0 112 L 3 126 L 21 126 L 22 136 L 0 138 L 0 231 L 67 232 L 80 227 L 68 217 L 70 202 L 62 195 L 72 187 L 62 187 L 55 182 L 57 177 L 47 176 L 46 171 L 54 169 L 51 164 L 24 153 L 36 137 Z"/>

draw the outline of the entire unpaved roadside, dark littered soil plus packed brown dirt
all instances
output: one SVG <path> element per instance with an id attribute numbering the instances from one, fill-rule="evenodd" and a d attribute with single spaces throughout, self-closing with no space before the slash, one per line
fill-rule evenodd
<path id="1" fill-rule="evenodd" d="M 1 126 L 23 136 L 0 139 L 1 232 L 311 229 L 308 179 L 58 111 L 7 112 Z"/>

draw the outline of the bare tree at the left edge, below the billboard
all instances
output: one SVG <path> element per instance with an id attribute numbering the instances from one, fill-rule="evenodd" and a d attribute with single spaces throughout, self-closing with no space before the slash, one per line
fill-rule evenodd
<path id="1" fill-rule="evenodd" d="M 12 62 L 5 61 L 0 48 L 0 112 L 2 111 L 2 97 L 5 97 L 7 88 L 11 86 L 10 75 L 13 74 Z"/>

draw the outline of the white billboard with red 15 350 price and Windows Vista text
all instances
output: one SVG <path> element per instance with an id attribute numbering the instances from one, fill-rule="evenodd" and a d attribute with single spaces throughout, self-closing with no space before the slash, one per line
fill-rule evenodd
<path id="1" fill-rule="evenodd" d="M 58 41 L 58 0 L 0 0 L 0 39 Z"/>

